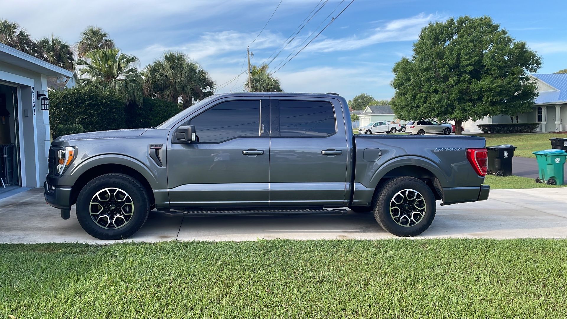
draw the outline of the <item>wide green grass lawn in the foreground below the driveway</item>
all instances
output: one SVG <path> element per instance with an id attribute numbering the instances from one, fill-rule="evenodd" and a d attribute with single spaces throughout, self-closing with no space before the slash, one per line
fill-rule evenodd
<path id="1" fill-rule="evenodd" d="M 0 318 L 560 318 L 565 240 L 0 245 Z"/>

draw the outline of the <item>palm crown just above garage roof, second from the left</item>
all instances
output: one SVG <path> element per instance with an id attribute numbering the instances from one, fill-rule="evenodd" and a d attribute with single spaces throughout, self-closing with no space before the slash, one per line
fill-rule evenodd
<path id="1" fill-rule="evenodd" d="M 36 56 L 64 69 L 74 68 L 73 50 L 58 36 L 51 35 L 37 41 Z"/>

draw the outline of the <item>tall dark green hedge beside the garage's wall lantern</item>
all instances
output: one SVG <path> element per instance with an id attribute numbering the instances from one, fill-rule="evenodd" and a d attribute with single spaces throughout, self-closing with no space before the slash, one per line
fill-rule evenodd
<path id="1" fill-rule="evenodd" d="M 84 132 L 128 128 L 124 105 L 115 91 L 92 86 L 50 91 L 49 119 L 56 128 L 53 138 L 61 135 L 57 132 L 59 125 L 80 124 Z"/>

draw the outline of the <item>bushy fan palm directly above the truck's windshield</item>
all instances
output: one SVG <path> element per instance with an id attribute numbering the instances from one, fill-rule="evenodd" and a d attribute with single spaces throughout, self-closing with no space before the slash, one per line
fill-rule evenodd
<path id="1" fill-rule="evenodd" d="M 163 57 L 146 66 L 144 93 L 171 102 L 181 98 L 183 108 L 214 94 L 215 83 L 197 62 L 186 54 L 166 51 Z"/>

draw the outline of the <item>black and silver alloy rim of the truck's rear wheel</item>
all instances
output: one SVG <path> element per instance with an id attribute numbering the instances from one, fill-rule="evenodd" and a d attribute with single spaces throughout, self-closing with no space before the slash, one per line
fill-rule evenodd
<path id="1" fill-rule="evenodd" d="M 396 224 L 404 227 L 420 223 L 426 208 L 424 196 L 416 190 L 401 190 L 390 200 L 390 216 Z"/>

